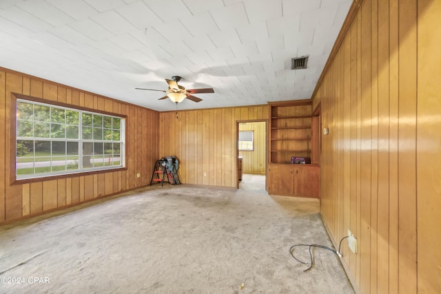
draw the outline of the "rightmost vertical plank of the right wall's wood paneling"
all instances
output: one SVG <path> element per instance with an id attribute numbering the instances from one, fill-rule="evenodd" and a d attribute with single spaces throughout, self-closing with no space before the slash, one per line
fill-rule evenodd
<path id="1" fill-rule="evenodd" d="M 413 110 L 417 111 L 419 293 L 441 292 L 440 15 L 441 1 L 418 1 L 418 101 Z"/>

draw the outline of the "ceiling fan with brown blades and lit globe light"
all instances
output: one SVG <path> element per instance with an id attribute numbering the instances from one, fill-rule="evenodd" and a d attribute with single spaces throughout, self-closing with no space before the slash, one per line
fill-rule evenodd
<path id="1" fill-rule="evenodd" d="M 202 101 L 201 98 L 193 96 L 192 94 L 214 93 L 213 88 L 186 90 L 185 87 L 178 85 L 178 82 L 181 81 L 181 76 L 172 76 L 171 80 L 169 80 L 168 78 L 165 78 L 165 81 L 168 84 L 167 91 L 155 90 L 155 89 L 145 89 L 145 88 L 135 88 L 135 89 L 136 90 L 147 90 L 147 91 L 159 91 L 159 92 L 167 93 L 166 96 L 163 96 L 163 97 L 159 98 L 158 100 L 170 98 L 170 100 L 172 100 L 176 104 L 182 102 L 185 98 L 187 98 L 191 101 L 194 101 L 194 102 Z"/>

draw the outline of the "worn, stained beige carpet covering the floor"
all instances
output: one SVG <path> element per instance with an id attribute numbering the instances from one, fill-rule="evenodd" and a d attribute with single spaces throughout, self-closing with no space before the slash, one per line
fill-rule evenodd
<path id="1" fill-rule="evenodd" d="M 0 293 L 353 293 L 337 255 L 314 249 L 307 272 L 289 255 L 331 246 L 318 201 L 264 181 L 156 185 L 1 227 Z"/>

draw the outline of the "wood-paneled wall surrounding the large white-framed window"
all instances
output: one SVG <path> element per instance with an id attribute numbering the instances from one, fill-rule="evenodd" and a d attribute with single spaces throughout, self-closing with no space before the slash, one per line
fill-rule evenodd
<path id="1" fill-rule="evenodd" d="M 12 184 L 10 165 L 14 165 L 15 158 L 10 148 L 14 146 L 11 143 L 15 135 L 11 134 L 10 125 L 11 92 L 43 98 L 48 103 L 58 101 L 127 116 L 127 170 Z M 159 114 L 153 110 L 0 67 L 0 224 L 148 185 L 158 158 L 158 126 Z"/>

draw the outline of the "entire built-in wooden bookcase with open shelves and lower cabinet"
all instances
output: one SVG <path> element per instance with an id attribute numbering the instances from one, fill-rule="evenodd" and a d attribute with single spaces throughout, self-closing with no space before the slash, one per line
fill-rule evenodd
<path id="1" fill-rule="evenodd" d="M 268 193 L 318 198 L 320 121 L 312 116 L 311 101 L 269 103 L 269 117 Z M 291 164 L 292 157 L 313 164 Z"/>

